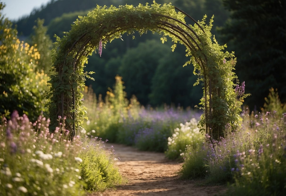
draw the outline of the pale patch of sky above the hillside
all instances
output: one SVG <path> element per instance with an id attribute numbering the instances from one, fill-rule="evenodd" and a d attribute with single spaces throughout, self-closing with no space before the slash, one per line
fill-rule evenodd
<path id="1" fill-rule="evenodd" d="M 1 11 L 5 18 L 17 20 L 22 16 L 30 15 L 34 8 L 40 8 L 41 5 L 47 5 L 51 0 L 0 0 L 5 4 Z"/>

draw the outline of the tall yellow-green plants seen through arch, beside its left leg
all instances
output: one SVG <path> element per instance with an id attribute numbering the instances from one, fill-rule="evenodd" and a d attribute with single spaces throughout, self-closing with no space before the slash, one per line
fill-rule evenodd
<path id="1" fill-rule="evenodd" d="M 109 88 L 104 100 L 102 95 L 97 98 L 91 87 L 85 87 L 84 105 L 87 107 L 88 120 L 84 122 L 82 133 L 116 142 L 124 119 L 128 115 L 138 116 L 139 103 L 136 97 L 128 101 L 122 77 L 116 76 L 115 79 L 114 90 Z"/>

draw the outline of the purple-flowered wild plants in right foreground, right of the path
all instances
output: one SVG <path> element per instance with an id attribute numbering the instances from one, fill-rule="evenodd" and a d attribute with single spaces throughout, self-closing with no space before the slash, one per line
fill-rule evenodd
<path id="1" fill-rule="evenodd" d="M 200 150 L 188 148 L 185 153 L 182 177 L 235 183 L 231 195 L 282 195 L 286 191 L 286 113 L 280 118 L 275 113 L 249 116 L 243 111 L 241 129 L 219 141 L 210 141 L 206 135 Z"/>

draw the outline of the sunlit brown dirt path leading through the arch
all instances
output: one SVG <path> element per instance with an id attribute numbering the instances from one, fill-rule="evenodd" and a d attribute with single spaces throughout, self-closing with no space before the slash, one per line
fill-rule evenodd
<path id="1" fill-rule="evenodd" d="M 114 146 L 117 163 L 122 176 L 128 183 L 92 196 L 126 196 L 126 195 L 218 195 L 223 186 L 200 186 L 199 181 L 180 180 L 177 172 L 182 163 L 169 161 L 164 153 L 142 152 L 120 144 Z"/>

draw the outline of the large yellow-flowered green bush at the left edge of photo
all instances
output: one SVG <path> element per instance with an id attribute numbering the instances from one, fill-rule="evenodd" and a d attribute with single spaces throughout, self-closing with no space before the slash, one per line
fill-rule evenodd
<path id="1" fill-rule="evenodd" d="M 17 38 L 12 23 L 1 18 L 0 26 L 0 113 L 9 117 L 14 110 L 37 119 L 46 112 L 47 75 L 38 70 L 40 53 Z M 8 112 L 9 111 L 9 112 Z"/>

